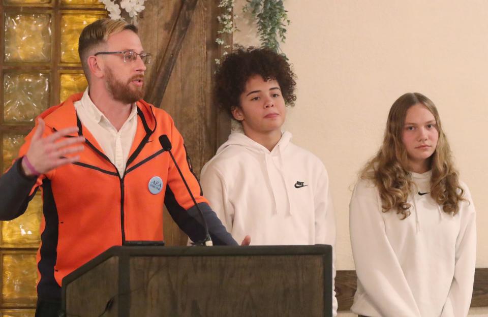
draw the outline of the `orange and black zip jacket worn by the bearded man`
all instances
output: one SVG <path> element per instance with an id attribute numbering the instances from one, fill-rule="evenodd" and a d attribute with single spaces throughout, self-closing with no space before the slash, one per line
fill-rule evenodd
<path id="1" fill-rule="evenodd" d="M 43 221 L 37 253 L 39 298 L 60 300 L 63 277 L 111 246 L 131 240 L 163 240 L 163 204 L 193 241 L 204 238 L 196 206 L 169 153 L 161 147 L 158 140 L 161 135 L 167 135 L 172 144 L 171 151 L 204 213 L 214 244 L 237 244 L 202 196 L 183 138 L 165 111 L 142 100 L 137 102 L 137 132 L 126 170 L 120 177 L 76 115 L 73 103 L 81 96 L 81 93 L 75 94 L 40 115 L 46 123 L 44 137 L 69 126 L 79 127 L 78 135 L 86 138 L 80 161 L 58 167 L 37 179 L 28 179 L 21 173 L 17 159 L 0 178 L 2 220 L 23 214 L 41 188 Z M 34 130 L 25 138 L 19 158 L 27 152 L 33 133 Z M 161 178 L 162 186 L 159 193 L 152 194 L 149 182 L 155 176 Z"/>

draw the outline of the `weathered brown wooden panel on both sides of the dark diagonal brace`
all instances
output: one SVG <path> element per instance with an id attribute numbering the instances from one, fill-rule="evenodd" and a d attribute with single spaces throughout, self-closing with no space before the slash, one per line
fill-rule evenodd
<path id="1" fill-rule="evenodd" d="M 187 0 L 147 2 L 139 18 L 139 30 L 144 50 L 154 54 L 156 62 L 147 70 L 146 97 L 161 76 L 158 63 L 163 59 L 182 4 Z M 215 154 L 217 147 L 230 133 L 230 119 L 212 105 L 212 75 L 215 58 L 222 53 L 215 43 L 217 15 L 220 9 L 214 0 L 198 0 L 184 41 L 176 58 L 171 77 L 160 105 L 174 119 L 191 157 L 195 174 L 200 175 L 203 165 Z M 167 67 L 167 65 L 165 65 Z M 164 212 L 164 236 L 167 245 L 185 245 L 187 236 Z"/>

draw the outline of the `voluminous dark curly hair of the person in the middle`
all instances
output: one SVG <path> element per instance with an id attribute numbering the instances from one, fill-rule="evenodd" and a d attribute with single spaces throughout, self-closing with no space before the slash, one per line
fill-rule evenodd
<path id="1" fill-rule="evenodd" d="M 295 105 L 295 74 L 285 56 L 267 48 L 239 47 L 227 54 L 215 74 L 214 100 L 232 118 L 232 110 L 240 107 L 240 95 L 249 78 L 260 75 L 280 85 L 287 106 Z"/>

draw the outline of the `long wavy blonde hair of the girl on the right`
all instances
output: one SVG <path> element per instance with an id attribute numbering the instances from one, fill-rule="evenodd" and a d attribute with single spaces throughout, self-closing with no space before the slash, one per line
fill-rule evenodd
<path id="1" fill-rule="evenodd" d="M 396 209 L 405 219 L 410 215 L 407 203 L 413 182 L 408 168 L 407 150 L 402 141 L 405 117 L 410 107 L 421 104 L 434 115 L 439 133 L 437 148 L 430 157 L 432 169 L 431 196 L 444 212 L 456 214 L 464 191 L 459 184 L 458 172 L 452 163 L 452 155 L 442 131 L 439 113 L 434 103 L 418 92 L 405 93 L 390 108 L 383 145 L 378 153 L 361 170 L 360 177 L 369 179 L 378 188 L 383 212 Z"/>

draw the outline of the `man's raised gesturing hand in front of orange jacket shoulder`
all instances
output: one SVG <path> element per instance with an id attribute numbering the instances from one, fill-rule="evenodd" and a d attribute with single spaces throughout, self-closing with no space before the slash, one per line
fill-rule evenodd
<path id="1" fill-rule="evenodd" d="M 28 163 L 22 160 L 22 169 L 27 176 L 35 175 L 36 172 L 44 174 L 59 166 L 79 161 L 79 155 L 66 155 L 81 152 L 84 148 L 83 145 L 80 145 L 80 143 L 85 141 L 84 137 L 66 138 L 59 141 L 59 139 L 71 133 L 78 132 L 78 127 L 76 126 L 59 130 L 43 138 L 44 129 L 44 120 L 39 118 L 39 124 L 31 140 L 31 146 L 27 150 L 27 154 L 25 154 Z"/>

